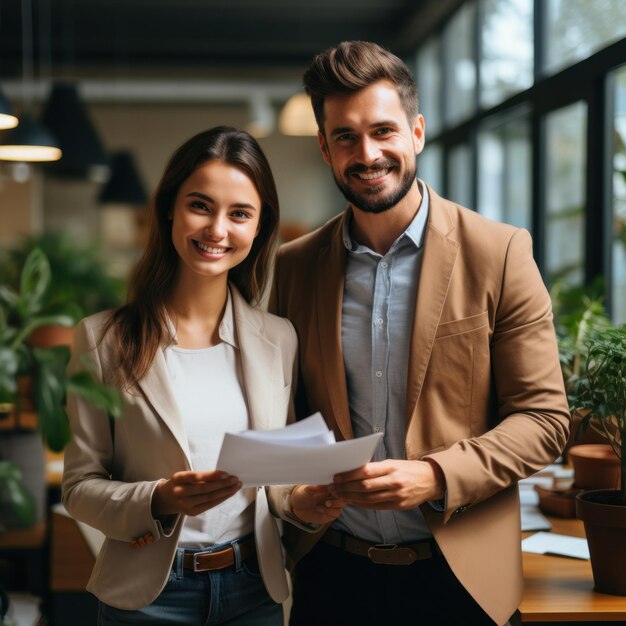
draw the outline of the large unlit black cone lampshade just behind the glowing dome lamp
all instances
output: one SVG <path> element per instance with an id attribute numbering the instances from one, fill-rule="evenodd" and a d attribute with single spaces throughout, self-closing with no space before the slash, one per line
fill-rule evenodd
<path id="1" fill-rule="evenodd" d="M 53 85 L 41 121 L 54 133 L 63 150 L 63 158 L 48 166 L 49 173 L 75 178 L 106 179 L 109 157 L 78 95 L 76 85 Z"/>

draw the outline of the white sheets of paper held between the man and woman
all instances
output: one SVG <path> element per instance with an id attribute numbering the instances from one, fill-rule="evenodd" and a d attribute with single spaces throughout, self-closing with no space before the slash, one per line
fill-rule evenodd
<path id="1" fill-rule="evenodd" d="M 365 465 L 382 436 L 336 442 L 316 413 L 284 428 L 226 433 L 217 469 L 237 476 L 244 487 L 327 485 L 335 474 Z"/>

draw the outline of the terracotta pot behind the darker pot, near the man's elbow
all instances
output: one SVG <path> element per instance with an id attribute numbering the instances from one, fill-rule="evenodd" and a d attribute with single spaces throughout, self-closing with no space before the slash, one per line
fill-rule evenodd
<path id="1" fill-rule="evenodd" d="M 619 489 L 620 462 L 609 444 L 582 444 L 569 449 L 574 486 L 579 489 Z"/>

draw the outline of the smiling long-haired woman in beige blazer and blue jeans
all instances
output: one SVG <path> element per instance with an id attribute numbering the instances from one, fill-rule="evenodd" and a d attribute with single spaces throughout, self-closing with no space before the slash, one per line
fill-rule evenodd
<path id="1" fill-rule="evenodd" d="M 77 328 L 70 368 L 88 357 L 125 402 L 112 421 L 68 399 L 63 503 L 106 537 L 87 586 L 101 625 L 283 624 L 266 490 L 215 469 L 225 432 L 287 420 L 295 332 L 251 306 L 277 226 L 256 141 L 196 135 L 165 169 L 128 304 Z"/>

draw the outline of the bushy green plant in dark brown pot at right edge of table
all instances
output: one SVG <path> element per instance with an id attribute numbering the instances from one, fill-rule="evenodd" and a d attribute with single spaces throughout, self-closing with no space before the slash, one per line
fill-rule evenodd
<path id="1" fill-rule="evenodd" d="M 605 327 L 585 342 L 581 373 L 568 399 L 583 430 L 604 437 L 620 463 L 619 489 L 584 490 L 576 514 L 584 522 L 595 588 L 626 595 L 626 326 Z"/>

